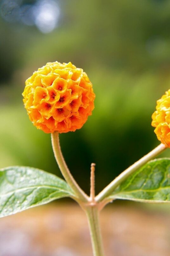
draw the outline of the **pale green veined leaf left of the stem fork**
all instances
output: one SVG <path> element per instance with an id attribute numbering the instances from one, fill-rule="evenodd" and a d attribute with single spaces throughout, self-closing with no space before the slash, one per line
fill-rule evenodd
<path id="1" fill-rule="evenodd" d="M 0 217 L 74 196 L 69 185 L 53 174 L 32 167 L 0 170 Z"/>

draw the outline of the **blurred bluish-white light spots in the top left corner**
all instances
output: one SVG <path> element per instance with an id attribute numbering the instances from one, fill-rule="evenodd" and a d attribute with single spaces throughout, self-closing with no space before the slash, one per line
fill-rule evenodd
<path id="1" fill-rule="evenodd" d="M 55 0 L 38 0 L 34 4 L 3 0 L 0 13 L 8 22 L 35 25 L 42 33 L 49 33 L 58 25 L 60 8 Z"/>

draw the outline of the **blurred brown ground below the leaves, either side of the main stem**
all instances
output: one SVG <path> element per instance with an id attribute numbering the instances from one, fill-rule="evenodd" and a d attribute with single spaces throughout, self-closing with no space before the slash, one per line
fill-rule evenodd
<path id="1" fill-rule="evenodd" d="M 110 205 L 101 212 L 107 256 L 169 256 L 168 212 Z M 0 219 L 0 256 L 92 256 L 84 212 L 48 204 Z"/>

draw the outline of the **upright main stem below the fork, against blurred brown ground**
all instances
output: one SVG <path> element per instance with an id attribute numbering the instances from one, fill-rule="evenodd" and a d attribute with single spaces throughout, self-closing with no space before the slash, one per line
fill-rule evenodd
<path id="1" fill-rule="evenodd" d="M 101 230 L 99 224 L 99 210 L 97 206 L 94 205 L 86 208 L 85 212 L 88 218 L 93 255 L 104 256 Z"/>

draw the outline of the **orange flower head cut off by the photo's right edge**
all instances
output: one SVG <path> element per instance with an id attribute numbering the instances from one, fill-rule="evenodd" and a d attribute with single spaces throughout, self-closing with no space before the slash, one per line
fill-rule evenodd
<path id="1" fill-rule="evenodd" d="M 170 89 L 157 101 L 152 120 L 157 138 L 170 147 Z"/>

